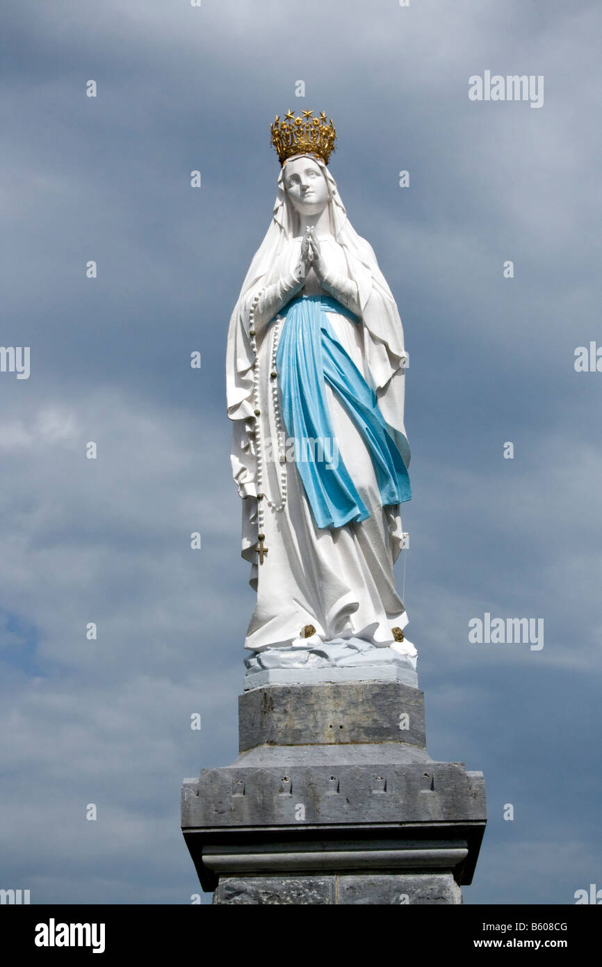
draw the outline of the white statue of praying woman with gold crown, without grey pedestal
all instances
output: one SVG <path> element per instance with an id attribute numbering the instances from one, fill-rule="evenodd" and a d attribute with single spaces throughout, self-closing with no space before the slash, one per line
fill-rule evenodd
<path id="1" fill-rule="evenodd" d="M 416 667 L 393 579 L 410 499 L 403 329 L 327 167 L 324 113 L 272 125 L 272 222 L 227 345 L 232 468 L 257 604 L 248 668 Z"/>

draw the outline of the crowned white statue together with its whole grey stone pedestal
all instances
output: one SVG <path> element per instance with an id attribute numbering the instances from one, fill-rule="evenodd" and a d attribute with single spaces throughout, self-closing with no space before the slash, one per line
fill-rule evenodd
<path id="1" fill-rule="evenodd" d="M 272 125 L 272 222 L 230 320 L 232 469 L 257 602 L 240 754 L 184 780 L 182 831 L 216 904 L 458 904 L 485 785 L 427 752 L 393 579 L 411 497 L 408 357 L 330 174 L 332 122 L 312 113 Z"/>

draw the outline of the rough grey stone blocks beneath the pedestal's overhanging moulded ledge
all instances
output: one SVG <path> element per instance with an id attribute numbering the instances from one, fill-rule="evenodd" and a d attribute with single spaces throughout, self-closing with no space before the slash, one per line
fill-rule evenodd
<path id="1" fill-rule="evenodd" d="M 333 876 L 223 876 L 214 903 L 273 905 L 437 905 L 462 903 L 451 873 Z"/>

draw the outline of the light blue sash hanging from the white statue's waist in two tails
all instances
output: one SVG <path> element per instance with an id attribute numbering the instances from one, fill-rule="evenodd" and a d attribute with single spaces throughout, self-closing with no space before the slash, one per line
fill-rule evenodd
<path id="1" fill-rule="evenodd" d="M 410 500 L 410 480 L 401 454 L 378 407 L 376 393 L 334 335 L 327 311 L 358 322 L 328 296 L 301 296 L 285 316 L 276 370 L 287 437 L 316 524 L 343 527 L 369 512 L 337 451 L 326 384 L 339 397 L 372 459 L 384 507 Z"/>

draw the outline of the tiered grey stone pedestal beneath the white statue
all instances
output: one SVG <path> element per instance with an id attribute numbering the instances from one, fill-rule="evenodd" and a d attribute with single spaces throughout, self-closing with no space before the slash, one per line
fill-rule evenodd
<path id="1" fill-rule="evenodd" d="M 482 773 L 426 752 L 396 681 L 269 684 L 239 698 L 241 754 L 185 779 L 182 830 L 214 903 L 461 903 Z"/>

